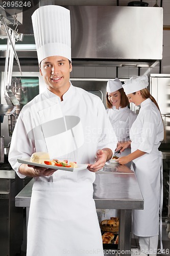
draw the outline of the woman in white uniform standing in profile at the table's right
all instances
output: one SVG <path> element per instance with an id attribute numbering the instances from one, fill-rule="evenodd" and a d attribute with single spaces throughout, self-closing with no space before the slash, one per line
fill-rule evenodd
<path id="1" fill-rule="evenodd" d="M 151 96 L 148 76 L 131 77 L 123 88 L 129 102 L 140 105 L 139 114 L 132 124 L 130 140 L 121 143 L 124 151 L 131 144 L 132 153 L 118 159 L 120 164 L 134 163 L 134 170 L 144 199 L 144 209 L 133 211 L 133 232 L 139 237 L 140 251 L 134 254 L 156 255 L 159 234 L 159 200 L 161 154 L 158 151 L 164 138 L 164 127 L 159 107 Z"/>

